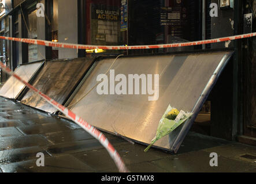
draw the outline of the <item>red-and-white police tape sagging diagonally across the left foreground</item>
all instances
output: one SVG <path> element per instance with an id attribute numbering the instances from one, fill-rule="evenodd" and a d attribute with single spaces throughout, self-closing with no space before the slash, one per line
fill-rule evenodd
<path id="1" fill-rule="evenodd" d="M 73 113 L 71 110 L 65 108 L 61 104 L 58 104 L 58 102 L 54 101 L 54 99 L 51 99 L 47 95 L 40 92 L 38 89 L 35 89 L 34 86 L 30 85 L 28 82 L 24 81 L 20 78 L 20 76 L 14 74 L 13 71 L 10 70 L 10 68 L 6 67 L 2 62 L 0 62 L 0 68 L 2 68 L 3 71 L 7 72 L 9 75 L 12 75 L 14 78 L 16 78 L 18 81 L 24 83 L 29 89 L 33 90 L 36 94 L 40 95 L 43 99 L 45 99 L 49 104 L 53 105 L 55 108 L 60 110 L 65 116 L 71 118 L 71 120 L 75 121 L 80 127 L 82 127 L 84 130 L 86 130 L 90 135 L 95 137 L 102 145 L 106 148 L 107 152 L 109 152 L 109 155 L 114 160 L 114 163 L 116 163 L 116 166 L 120 173 L 128 173 L 129 171 L 125 167 L 125 164 L 123 160 L 121 159 L 118 152 L 114 149 L 112 144 L 107 140 L 106 136 L 103 135 L 100 131 L 98 131 L 97 128 L 93 127 L 92 125 L 88 124 L 86 121 L 84 121 L 81 117 L 77 116 L 75 113 Z"/>

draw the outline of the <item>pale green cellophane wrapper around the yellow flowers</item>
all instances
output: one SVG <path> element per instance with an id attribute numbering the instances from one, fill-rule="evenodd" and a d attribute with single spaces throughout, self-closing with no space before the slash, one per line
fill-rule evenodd
<path id="1" fill-rule="evenodd" d="M 169 105 L 168 108 L 165 111 L 164 116 L 162 116 L 161 120 L 159 121 L 159 125 L 157 128 L 157 133 L 155 135 L 155 138 L 151 141 L 151 144 L 149 147 L 147 147 L 144 152 L 149 151 L 150 147 L 159 139 L 162 139 L 162 137 L 169 135 L 169 133 L 173 132 L 176 128 L 178 128 L 181 124 L 183 124 L 185 121 L 188 120 L 192 116 L 193 113 L 185 113 L 184 117 L 176 122 L 174 120 L 169 120 L 166 118 L 166 115 L 172 110 L 173 108 Z"/>

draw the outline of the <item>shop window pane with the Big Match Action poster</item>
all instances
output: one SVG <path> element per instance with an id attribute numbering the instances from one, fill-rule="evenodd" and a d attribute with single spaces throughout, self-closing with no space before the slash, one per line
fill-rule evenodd
<path id="1" fill-rule="evenodd" d="M 123 7 L 123 6 L 122 6 Z M 123 9 L 122 9 L 123 10 Z M 125 45 L 127 31 L 125 26 L 121 28 L 121 18 L 124 14 L 121 10 L 120 0 L 91 0 L 86 1 L 87 43 L 91 45 Z M 127 18 L 125 19 L 127 21 Z M 123 21 L 124 22 L 124 21 Z M 122 24 L 123 24 L 122 22 Z M 87 53 L 120 52 L 105 51 L 102 49 L 87 50 Z"/>

